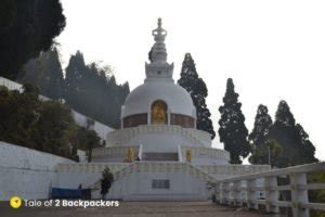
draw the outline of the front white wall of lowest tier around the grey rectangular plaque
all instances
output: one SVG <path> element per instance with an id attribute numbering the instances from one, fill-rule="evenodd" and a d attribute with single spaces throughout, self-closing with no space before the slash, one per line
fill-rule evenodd
<path id="1" fill-rule="evenodd" d="M 154 179 L 164 179 L 170 181 L 170 189 L 153 189 Z M 94 192 L 93 195 L 100 191 Z M 169 173 L 134 173 L 122 177 L 114 183 L 108 197 L 125 201 L 155 201 L 155 200 L 207 200 L 208 191 L 206 182 L 193 177 L 187 171 L 169 171 Z"/>

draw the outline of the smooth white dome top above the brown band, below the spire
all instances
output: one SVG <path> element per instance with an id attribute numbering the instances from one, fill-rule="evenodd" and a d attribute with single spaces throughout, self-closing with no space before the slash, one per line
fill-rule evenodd
<path id="1" fill-rule="evenodd" d="M 121 110 L 121 118 L 150 113 L 156 100 L 162 100 L 168 106 L 168 112 L 187 115 L 196 119 L 196 110 L 190 93 L 172 80 L 151 80 L 135 88 L 127 97 Z"/>

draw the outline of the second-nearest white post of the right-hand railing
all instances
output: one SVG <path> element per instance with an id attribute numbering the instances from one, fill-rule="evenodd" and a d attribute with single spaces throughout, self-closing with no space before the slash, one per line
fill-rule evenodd
<path id="1" fill-rule="evenodd" d="M 265 199 L 266 199 L 266 212 L 268 213 L 278 213 L 278 206 L 275 202 L 278 201 L 278 191 L 275 189 L 277 187 L 276 177 L 265 177 Z"/>

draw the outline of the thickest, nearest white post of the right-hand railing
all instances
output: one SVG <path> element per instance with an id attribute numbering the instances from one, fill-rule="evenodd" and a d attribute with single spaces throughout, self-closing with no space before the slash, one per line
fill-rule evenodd
<path id="1" fill-rule="evenodd" d="M 297 217 L 309 217 L 308 208 L 301 208 L 302 203 L 308 203 L 308 190 L 299 189 L 299 186 L 307 184 L 307 177 L 304 173 L 290 174 L 290 190 L 291 190 L 291 207 L 292 215 Z"/>

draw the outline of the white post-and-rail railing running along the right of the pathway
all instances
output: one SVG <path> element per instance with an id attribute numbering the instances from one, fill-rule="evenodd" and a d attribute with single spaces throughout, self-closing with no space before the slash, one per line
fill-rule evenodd
<path id="1" fill-rule="evenodd" d="M 311 209 L 325 210 L 324 203 L 311 203 L 308 197 L 309 190 L 325 189 L 325 183 L 309 183 L 307 179 L 308 174 L 321 171 L 325 171 L 325 162 L 219 180 L 214 182 L 216 202 L 252 209 L 263 205 L 268 213 L 287 207 L 292 216 L 307 217 Z M 278 177 L 288 177 L 289 183 L 280 186 Z M 280 200 L 283 191 L 290 192 L 290 201 Z"/>

